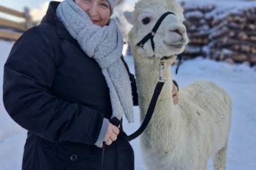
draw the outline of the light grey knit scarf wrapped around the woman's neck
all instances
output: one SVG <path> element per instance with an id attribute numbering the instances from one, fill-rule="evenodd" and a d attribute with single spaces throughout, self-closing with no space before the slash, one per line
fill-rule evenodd
<path id="1" fill-rule="evenodd" d="M 89 16 L 73 0 L 60 3 L 57 17 L 63 22 L 71 36 L 76 39 L 87 56 L 92 57 L 102 69 L 110 91 L 112 117 L 134 121 L 133 99 L 129 75 L 121 60 L 123 39 L 112 18 L 109 24 L 94 25 Z M 86 88 L 86 87 L 84 87 Z"/>

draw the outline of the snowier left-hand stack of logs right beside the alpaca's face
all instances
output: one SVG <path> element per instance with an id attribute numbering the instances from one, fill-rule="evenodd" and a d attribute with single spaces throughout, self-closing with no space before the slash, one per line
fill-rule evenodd
<path id="1" fill-rule="evenodd" d="M 183 58 L 195 58 L 197 56 L 207 57 L 208 50 L 205 48 L 209 44 L 209 33 L 212 28 L 213 16 L 211 12 L 216 8 L 215 5 L 192 5 L 181 2 L 184 9 L 189 44 L 186 46 Z"/>

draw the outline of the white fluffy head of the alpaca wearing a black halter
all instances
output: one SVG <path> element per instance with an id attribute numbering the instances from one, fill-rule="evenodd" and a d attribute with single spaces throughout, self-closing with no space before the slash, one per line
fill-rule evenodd
<path id="1" fill-rule="evenodd" d="M 135 60 L 148 59 L 147 57 L 159 59 L 183 52 L 188 44 L 188 37 L 183 24 L 183 8 L 176 0 L 141 0 L 134 8 L 133 12 L 125 12 L 125 17 L 134 25 L 129 32 L 129 42 Z M 166 12 L 174 14 L 167 15 L 157 29 L 153 38 L 155 49 L 152 49 L 151 40 L 143 48 L 137 45 Z M 172 60 L 174 62 L 175 58 Z"/>

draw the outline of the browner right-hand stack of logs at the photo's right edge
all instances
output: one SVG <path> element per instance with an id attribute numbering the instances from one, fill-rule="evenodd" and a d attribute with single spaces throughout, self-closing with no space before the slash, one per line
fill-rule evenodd
<path id="1" fill-rule="evenodd" d="M 229 12 L 222 20 L 214 19 L 212 25 L 212 58 L 256 64 L 256 7 Z"/>

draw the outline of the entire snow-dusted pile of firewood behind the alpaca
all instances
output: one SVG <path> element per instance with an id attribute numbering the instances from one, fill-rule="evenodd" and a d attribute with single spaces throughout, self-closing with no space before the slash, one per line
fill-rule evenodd
<path id="1" fill-rule="evenodd" d="M 256 7 L 220 12 L 216 6 L 181 2 L 189 44 L 183 58 L 197 56 L 256 65 Z"/>

